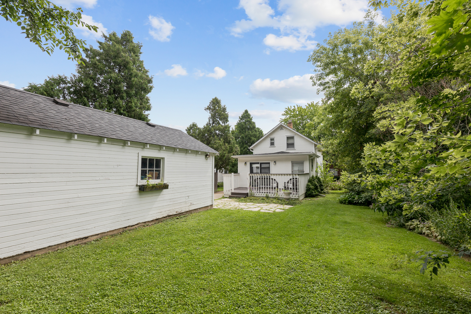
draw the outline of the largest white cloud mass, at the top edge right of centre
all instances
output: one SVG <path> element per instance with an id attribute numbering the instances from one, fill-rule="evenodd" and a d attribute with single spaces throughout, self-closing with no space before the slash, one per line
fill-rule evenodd
<path id="1" fill-rule="evenodd" d="M 235 21 L 230 28 L 232 35 L 241 37 L 258 27 L 272 27 L 280 30 L 281 36 L 268 34 L 263 42 L 276 50 L 295 51 L 314 47 L 316 42 L 308 37 L 314 37 L 319 26 L 363 20 L 368 0 L 279 0 L 277 11 L 281 15 L 276 15 L 268 0 L 240 0 L 238 8 L 243 8 L 248 18 Z"/>

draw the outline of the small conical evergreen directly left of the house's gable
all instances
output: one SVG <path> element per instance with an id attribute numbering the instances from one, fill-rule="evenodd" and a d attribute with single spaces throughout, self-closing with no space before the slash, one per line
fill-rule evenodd
<path id="1" fill-rule="evenodd" d="M 257 128 L 252 120 L 252 115 L 247 109 L 239 117 L 239 121 L 235 124 L 232 131 L 235 142 L 239 146 L 240 154 L 252 154 L 249 147 L 263 137 L 263 131 Z"/>

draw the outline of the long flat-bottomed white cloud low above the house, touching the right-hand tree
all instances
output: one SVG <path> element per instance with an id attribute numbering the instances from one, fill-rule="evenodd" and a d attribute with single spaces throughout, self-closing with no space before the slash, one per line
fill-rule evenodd
<path id="1" fill-rule="evenodd" d="M 258 79 L 250 85 L 250 92 L 254 98 L 273 99 L 288 104 L 306 104 L 319 101 L 322 95 L 316 94 L 316 87 L 312 86 L 311 74 L 296 75 L 286 80 Z"/>

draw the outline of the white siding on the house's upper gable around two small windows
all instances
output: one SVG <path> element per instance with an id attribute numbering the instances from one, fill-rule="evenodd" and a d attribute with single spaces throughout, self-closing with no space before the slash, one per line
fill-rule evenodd
<path id="1" fill-rule="evenodd" d="M 294 149 L 286 149 L 287 136 L 294 136 Z M 275 147 L 270 147 L 270 138 L 272 137 L 275 137 Z M 280 127 L 278 127 L 253 147 L 253 153 L 314 152 L 314 145 L 311 141 L 296 134 L 292 129 L 283 127 L 283 130 L 280 130 Z"/>

